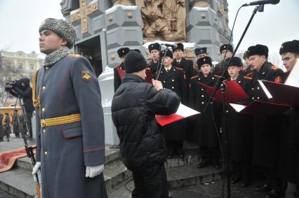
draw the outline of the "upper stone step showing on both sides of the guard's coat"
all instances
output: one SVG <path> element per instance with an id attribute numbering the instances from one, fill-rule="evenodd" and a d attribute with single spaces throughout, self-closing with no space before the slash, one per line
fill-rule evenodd
<path id="1" fill-rule="evenodd" d="M 105 147 L 105 165 L 106 166 L 107 166 L 107 164 L 110 164 L 116 160 L 119 160 L 120 157 L 121 157 L 121 154 L 119 152 L 119 148 L 116 148 L 114 146 L 106 146 Z M 16 166 L 20 167 L 22 169 L 32 170 L 31 159 L 29 157 L 22 157 L 17 160 Z"/>

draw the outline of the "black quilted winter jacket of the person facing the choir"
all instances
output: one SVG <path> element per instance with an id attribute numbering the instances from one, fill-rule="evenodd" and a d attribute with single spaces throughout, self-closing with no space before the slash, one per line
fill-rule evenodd
<path id="1" fill-rule="evenodd" d="M 157 91 L 132 73 L 124 75 L 112 100 L 112 120 L 117 127 L 122 160 L 129 170 L 165 162 L 166 143 L 154 115 L 175 113 L 179 104 L 175 92 Z"/>

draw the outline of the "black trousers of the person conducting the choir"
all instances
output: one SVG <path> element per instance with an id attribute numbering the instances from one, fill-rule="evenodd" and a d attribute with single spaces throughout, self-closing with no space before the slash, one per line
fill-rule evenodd
<path id="1" fill-rule="evenodd" d="M 164 164 L 133 171 L 135 188 L 132 198 L 168 198 L 168 182 Z"/>

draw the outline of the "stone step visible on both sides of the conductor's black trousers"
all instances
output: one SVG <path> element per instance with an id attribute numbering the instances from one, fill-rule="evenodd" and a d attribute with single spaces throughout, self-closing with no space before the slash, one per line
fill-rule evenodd
<path id="1" fill-rule="evenodd" d="M 222 169 L 205 167 L 197 169 L 195 164 L 185 167 L 171 168 L 167 170 L 170 195 L 178 188 L 186 188 L 193 185 L 212 183 L 222 178 Z M 122 183 L 108 192 L 111 198 L 129 198 L 134 188 L 133 180 Z"/>

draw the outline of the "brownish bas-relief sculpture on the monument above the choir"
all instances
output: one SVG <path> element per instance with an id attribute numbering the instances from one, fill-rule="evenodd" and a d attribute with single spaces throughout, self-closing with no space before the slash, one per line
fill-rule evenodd
<path id="1" fill-rule="evenodd" d="M 136 0 L 146 41 L 186 41 L 185 0 Z"/>

